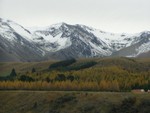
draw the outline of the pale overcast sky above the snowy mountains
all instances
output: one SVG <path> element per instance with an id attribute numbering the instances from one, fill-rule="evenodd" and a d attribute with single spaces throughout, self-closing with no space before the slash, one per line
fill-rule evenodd
<path id="1" fill-rule="evenodd" d="M 150 30 L 150 0 L 0 0 L 0 17 L 24 27 L 66 22 L 136 33 Z"/>

